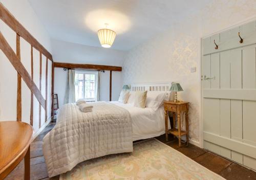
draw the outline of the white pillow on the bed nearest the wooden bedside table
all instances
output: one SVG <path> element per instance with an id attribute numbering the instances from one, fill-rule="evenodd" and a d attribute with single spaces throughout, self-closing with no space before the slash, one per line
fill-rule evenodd
<path id="1" fill-rule="evenodd" d="M 146 107 L 157 110 L 161 105 L 163 105 L 164 100 L 169 100 L 168 92 L 149 91 L 147 92 L 146 97 Z"/>

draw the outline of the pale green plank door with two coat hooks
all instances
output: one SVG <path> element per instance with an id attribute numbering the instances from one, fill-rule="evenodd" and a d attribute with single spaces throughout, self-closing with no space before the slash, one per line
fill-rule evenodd
<path id="1" fill-rule="evenodd" d="M 203 146 L 256 170 L 256 22 L 202 39 L 202 50 Z"/>

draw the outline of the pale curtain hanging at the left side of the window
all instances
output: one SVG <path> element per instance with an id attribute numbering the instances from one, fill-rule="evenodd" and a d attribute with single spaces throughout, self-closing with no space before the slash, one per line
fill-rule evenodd
<path id="1" fill-rule="evenodd" d="M 75 71 L 69 70 L 64 103 L 73 103 L 75 101 Z"/>

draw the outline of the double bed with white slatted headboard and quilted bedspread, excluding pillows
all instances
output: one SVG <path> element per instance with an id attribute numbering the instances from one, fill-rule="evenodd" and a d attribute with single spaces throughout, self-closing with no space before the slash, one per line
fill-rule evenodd
<path id="1" fill-rule="evenodd" d="M 166 92 L 170 83 L 132 84 L 131 91 Z M 169 98 L 169 97 L 168 97 Z M 165 133 L 164 109 L 139 108 L 117 101 L 94 102 L 82 113 L 75 103 L 59 109 L 55 127 L 43 139 L 49 177 L 99 156 L 132 152 L 133 141 Z"/>

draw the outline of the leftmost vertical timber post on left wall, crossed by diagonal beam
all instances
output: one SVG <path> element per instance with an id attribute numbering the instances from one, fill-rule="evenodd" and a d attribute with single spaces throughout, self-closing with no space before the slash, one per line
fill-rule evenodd
<path id="1" fill-rule="evenodd" d="M 16 34 L 16 55 L 20 61 L 20 37 Z M 22 76 L 17 74 L 17 121 L 22 121 Z"/>

